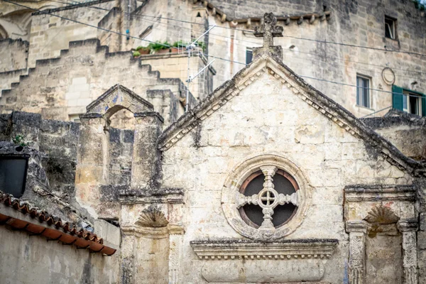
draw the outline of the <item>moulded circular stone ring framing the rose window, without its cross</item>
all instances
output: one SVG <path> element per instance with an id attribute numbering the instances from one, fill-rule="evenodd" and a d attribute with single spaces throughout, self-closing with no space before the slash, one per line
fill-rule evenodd
<path id="1" fill-rule="evenodd" d="M 261 167 L 275 166 L 291 175 L 299 189 L 297 190 L 299 206 L 294 216 L 282 226 L 274 229 L 261 230 L 247 224 L 239 212 L 238 200 L 241 185 Z M 288 158 L 278 154 L 261 154 L 253 156 L 237 165 L 228 175 L 222 187 L 222 210 L 231 227 L 242 236 L 259 241 L 282 239 L 292 234 L 305 220 L 307 209 L 312 200 L 312 187 L 300 167 Z"/>

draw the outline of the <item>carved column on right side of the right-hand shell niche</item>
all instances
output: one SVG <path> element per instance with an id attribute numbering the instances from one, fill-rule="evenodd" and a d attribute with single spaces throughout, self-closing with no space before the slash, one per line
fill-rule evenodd
<path id="1" fill-rule="evenodd" d="M 417 284 L 417 220 L 400 220 L 398 230 L 403 234 L 404 284 Z"/>

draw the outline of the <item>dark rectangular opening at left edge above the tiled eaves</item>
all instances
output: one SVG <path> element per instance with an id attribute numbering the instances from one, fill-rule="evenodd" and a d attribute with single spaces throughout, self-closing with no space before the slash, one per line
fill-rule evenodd
<path id="1" fill-rule="evenodd" d="M 26 157 L 0 157 L 0 190 L 21 197 L 25 191 L 27 168 Z"/>

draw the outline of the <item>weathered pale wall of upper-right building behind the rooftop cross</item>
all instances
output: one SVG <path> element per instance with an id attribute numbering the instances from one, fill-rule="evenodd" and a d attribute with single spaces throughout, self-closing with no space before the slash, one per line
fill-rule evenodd
<path id="1" fill-rule="evenodd" d="M 312 41 L 327 40 L 373 48 L 425 53 L 426 45 L 422 34 L 425 33 L 426 18 L 424 13 L 415 9 L 412 3 L 406 1 L 348 3 L 335 0 L 302 1 L 297 4 L 294 1 L 280 1 L 278 5 L 277 1 L 266 1 L 261 7 L 254 1 L 239 2 L 238 5 L 232 1 L 213 1 L 213 3 L 223 7 L 227 13 L 226 16 L 230 15 L 230 18 L 247 18 L 248 16 L 259 18 L 268 11 L 273 11 L 275 16 L 322 13 L 323 5 L 327 6 L 327 11 L 331 11 L 327 21 L 315 18 L 313 23 L 309 20 L 300 23 L 290 21 L 288 25 L 278 21 L 279 25 L 284 26 L 284 37 L 275 38 L 275 44 L 283 46 L 283 62 L 299 75 L 351 85 L 356 85 L 357 74 L 371 77 L 371 109 L 356 106 L 356 87 L 306 78 L 312 86 L 342 104 L 356 116 L 364 116 L 392 106 L 390 93 L 392 86 L 386 84 L 382 78 L 385 67 L 391 67 L 395 72 L 394 84 L 418 92 L 426 92 L 426 86 L 422 82 L 425 57 Z M 197 5 L 202 4 L 198 3 L 195 6 Z M 398 40 L 385 38 L 385 15 L 397 18 Z M 209 25 L 218 26 L 209 34 L 209 55 L 236 61 L 232 63 L 217 60 L 214 63 L 217 70 L 214 87 L 218 87 L 244 67 L 244 64 L 237 62 L 246 62 L 246 48 L 260 46 L 262 39 L 254 38 L 251 33 L 241 31 L 253 29 L 254 21 L 251 22 L 251 26 L 241 23 L 235 26 L 239 30 L 233 30 L 228 21 L 222 23 L 220 15 L 211 16 L 211 12 L 209 14 L 203 12 L 202 16 L 207 16 Z M 382 111 L 376 116 L 383 116 L 385 113 L 386 111 Z"/>

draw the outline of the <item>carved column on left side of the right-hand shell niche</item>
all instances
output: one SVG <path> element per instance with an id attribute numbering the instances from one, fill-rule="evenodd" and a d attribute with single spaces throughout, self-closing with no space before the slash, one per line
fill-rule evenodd
<path id="1" fill-rule="evenodd" d="M 365 221 L 346 221 L 349 233 L 349 283 L 365 284 L 366 278 L 366 234 Z"/>

